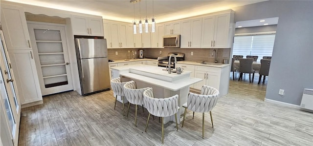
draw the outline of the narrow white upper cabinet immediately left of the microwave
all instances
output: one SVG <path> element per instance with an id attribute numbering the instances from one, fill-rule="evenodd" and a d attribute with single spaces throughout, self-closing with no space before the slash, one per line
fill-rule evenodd
<path id="1" fill-rule="evenodd" d="M 151 47 L 152 48 L 163 48 L 163 36 L 164 36 L 164 25 L 156 25 L 156 32 L 151 35 Z"/>

